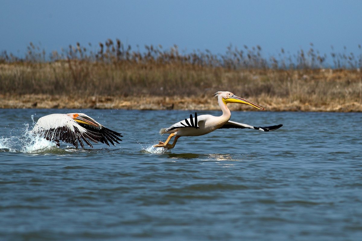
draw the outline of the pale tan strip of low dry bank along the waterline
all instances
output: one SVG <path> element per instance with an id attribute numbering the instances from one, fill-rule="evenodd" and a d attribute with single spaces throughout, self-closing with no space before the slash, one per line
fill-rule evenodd
<path id="1" fill-rule="evenodd" d="M 242 96 L 241 96 L 242 97 Z M 362 112 L 362 101 L 333 100 L 323 103 L 301 102 L 289 98 L 268 96 L 249 97 L 265 111 Z M 229 104 L 233 111 L 254 111 L 243 104 Z M 139 110 L 219 110 L 216 98 L 143 96 L 60 96 L 60 95 L 0 95 L 0 108 L 53 109 L 139 109 Z"/>

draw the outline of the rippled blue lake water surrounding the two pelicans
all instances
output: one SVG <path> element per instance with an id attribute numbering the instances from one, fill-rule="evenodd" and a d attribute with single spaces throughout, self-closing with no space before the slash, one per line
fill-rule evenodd
<path id="1" fill-rule="evenodd" d="M 362 113 L 232 112 L 284 126 L 167 152 L 159 129 L 194 111 L 81 110 L 122 133 L 115 147 L 28 133 L 31 115 L 77 111 L 0 109 L 0 240 L 362 240 Z"/>

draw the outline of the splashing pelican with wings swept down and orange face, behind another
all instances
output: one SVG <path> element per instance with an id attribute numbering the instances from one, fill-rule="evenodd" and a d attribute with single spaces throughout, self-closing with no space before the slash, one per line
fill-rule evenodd
<path id="1" fill-rule="evenodd" d="M 105 143 L 107 146 L 109 146 L 108 141 L 113 146 L 114 142 L 119 144 L 118 141 L 122 141 L 118 138 L 122 137 L 121 133 L 105 128 L 83 113 L 43 116 L 35 124 L 33 134 L 44 137 L 48 141 L 55 141 L 58 147 L 60 146 L 59 140 L 71 143 L 76 148 L 78 148 L 78 142 L 84 148 L 83 141 L 93 147 L 87 138 L 95 143 Z"/>

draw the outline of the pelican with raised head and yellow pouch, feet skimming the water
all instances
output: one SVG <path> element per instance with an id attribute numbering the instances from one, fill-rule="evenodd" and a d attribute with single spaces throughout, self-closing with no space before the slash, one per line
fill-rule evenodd
<path id="1" fill-rule="evenodd" d="M 264 132 L 270 132 L 272 130 L 279 129 L 282 125 L 273 125 L 273 126 L 266 126 L 266 127 L 255 127 L 243 123 L 238 123 L 234 121 L 230 121 L 231 113 L 230 110 L 227 108 L 227 103 L 239 103 L 239 104 L 247 104 L 249 106 L 253 106 L 257 109 L 263 109 L 262 107 L 245 100 L 243 98 L 237 97 L 231 92 L 228 91 L 218 91 L 215 93 L 215 97 L 218 97 L 218 102 L 223 114 L 221 116 L 212 116 L 212 115 L 201 115 L 197 116 L 195 113 L 195 117 L 193 118 L 190 115 L 189 119 L 185 119 L 183 121 L 177 122 L 173 124 L 169 128 L 162 128 L 160 130 L 160 134 L 170 134 L 165 142 L 161 142 L 154 147 L 164 147 L 167 149 L 172 149 L 177 139 L 182 136 L 198 136 L 198 135 L 205 135 L 210 133 L 216 129 L 223 129 L 223 128 L 249 128 L 255 130 L 261 130 Z M 172 145 L 168 142 L 171 140 L 172 137 L 175 137 Z"/>

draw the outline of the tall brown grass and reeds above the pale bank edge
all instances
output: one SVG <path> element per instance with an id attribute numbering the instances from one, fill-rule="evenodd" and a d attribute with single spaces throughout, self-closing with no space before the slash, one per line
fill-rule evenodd
<path id="1" fill-rule="evenodd" d="M 109 39 L 94 52 L 77 43 L 46 56 L 30 43 L 22 59 L 6 52 L 0 55 L 0 94 L 192 96 L 230 90 L 244 97 L 301 103 L 362 98 L 362 54 L 332 52 L 329 66 L 327 56 L 312 44 L 308 52 L 287 56 L 282 49 L 268 59 L 259 46 L 244 50 L 229 46 L 225 55 L 208 50 L 180 53 L 177 46 L 145 49 L 131 51 Z"/>

